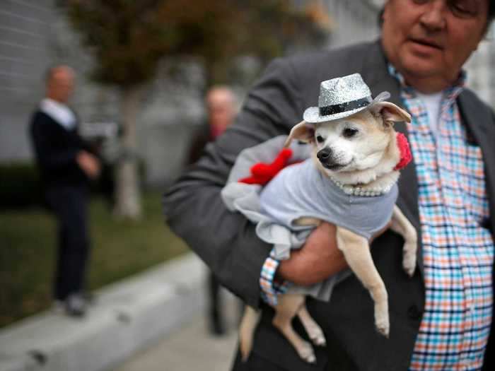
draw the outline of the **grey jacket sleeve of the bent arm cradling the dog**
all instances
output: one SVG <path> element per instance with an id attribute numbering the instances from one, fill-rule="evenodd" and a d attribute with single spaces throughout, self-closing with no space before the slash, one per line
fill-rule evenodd
<path id="1" fill-rule="evenodd" d="M 233 124 L 163 196 L 170 228 L 209 266 L 222 285 L 251 305 L 260 304 L 260 273 L 271 246 L 244 216 L 221 200 L 236 156 L 281 134 L 301 117 L 296 74 L 289 61 L 269 65 Z"/>

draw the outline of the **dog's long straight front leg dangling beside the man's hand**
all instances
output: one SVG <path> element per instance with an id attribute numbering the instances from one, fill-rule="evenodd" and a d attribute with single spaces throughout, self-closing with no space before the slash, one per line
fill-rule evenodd
<path id="1" fill-rule="evenodd" d="M 356 273 L 375 302 L 375 326 L 380 334 L 388 337 L 388 294 L 385 284 L 376 270 L 366 238 L 342 227 L 337 228 L 337 246 L 344 253 L 347 264 Z"/>

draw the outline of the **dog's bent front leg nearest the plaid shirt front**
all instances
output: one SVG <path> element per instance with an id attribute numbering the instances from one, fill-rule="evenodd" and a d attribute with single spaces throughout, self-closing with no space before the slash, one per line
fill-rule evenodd
<path id="1" fill-rule="evenodd" d="M 412 224 L 409 220 L 407 220 L 397 205 L 394 206 L 390 229 L 404 237 L 404 255 L 402 257 L 402 266 L 409 277 L 412 277 L 414 274 L 414 269 L 416 269 L 418 236 Z"/>

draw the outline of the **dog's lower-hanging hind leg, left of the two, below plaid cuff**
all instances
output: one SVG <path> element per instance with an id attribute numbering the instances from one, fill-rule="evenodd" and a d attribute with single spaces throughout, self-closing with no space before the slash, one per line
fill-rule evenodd
<path id="1" fill-rule="evenodd" d="M 301 309 L 304 300 L 304 295 L 300 294 L 280 295 L 279 302 L 275 307 L 276 313 L 273 318 L 273 324 L 284 334 L 303 360 L 308 363 L 315 363 L 316 356 L 313 347 L 310 343 L 304 341 L 292 328 L 292 319 Z"/>

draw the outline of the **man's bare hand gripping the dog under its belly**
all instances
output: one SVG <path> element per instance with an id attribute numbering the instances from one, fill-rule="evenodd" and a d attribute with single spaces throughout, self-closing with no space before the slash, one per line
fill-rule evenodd
<path id="1" fill-rule="evenodd" d="M 389 225 L 374 235 L 370 244 L 388 230 Z M 322 222 L 311 232 L 301 249 L 292 250 L 290 259 L 280 262 L 276 274 L 296 285 L 305 286 L 322 282 L 346 269 L 347 261 L 337 247 L 336 231 L 335 225 Z"/>

